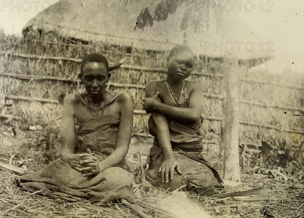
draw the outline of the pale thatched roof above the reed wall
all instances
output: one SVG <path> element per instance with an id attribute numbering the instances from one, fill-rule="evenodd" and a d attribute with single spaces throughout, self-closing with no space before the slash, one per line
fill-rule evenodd
<path id="1" fill-rule="evenodd" d="M 128 2 L 128 5 L 125 5 L 126 2 Z M 70 5 L 67 6 L 67 3 Z M 192 47 L 197 55 L 220 57 L 225 54 L 225 48 L 222 51 L 220 49 L 214 51 L 212 48 L 204 50 L 204 42 L 215 42 L 216 45 L 219 45 L 221 41 L 223 43 L 227 41 L 227 38 L 223 39 L 217 33 L 214 18 L 210 18 L 210 28 L 204 33 L 195 33 L 191 26 L 187 27 L 186 31 L 180 30 L 185 6 L 179 7 L 176 13 L 169 14 L 166 21 L 154 22 L 152 27 L 148 26 L 143 30 L 138 28 L 134 30 L 137 17 L 143 9 L 144 3 L 145 1 L 138 2 L 136 5 L 134 1 L 130 0 L 108 2 L 63 1 L 59 8 L 57 2 L 51 8 L 32 18 L 23 28 L 23 33 L 28 30 L 55 31 L 61 36 L 74 39 L 103 41 L 113 45 L 133 45 L 133 48 L 156 51 L 170 51 L 175 44 L 186 43 L 186 45 Z M 148 7 L 148 5 L 146 6 Z M 227 32 L 226 35 L 236 34 L 238 32 L 236 27 L 239 27 L 239 30 L 246 32 L 241 34 L 238 32 L 238 35 L 242 35 L 244 39 L 246 34 L 250 35 L 251 31 L 250 39 L 252 39 L 252 30 L 244 27 L 244 23 L 236 22 L 235 18 L 233 19 L 232 25 L 223 25 L 225 32 Z M 248 40 L 250 39 L 248 38 Z M 237 50 L 236 46 L 237 44 L 235 44 L 235 50 Z M 260 53 L 258 48 L 250 53 L 244 51 L 244 49 L 239 52 L 241 59 L 263 56 L 265 55 Z"/>

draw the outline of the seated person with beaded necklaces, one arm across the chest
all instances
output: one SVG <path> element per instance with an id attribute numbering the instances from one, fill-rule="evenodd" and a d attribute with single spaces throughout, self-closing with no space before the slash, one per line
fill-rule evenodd
<path id="1" fill-rule="evenodd" d="M 185 185 L 207 195 L 217 193 L 222 181 L 201 154 L 202 84 L 185 80 L 193 65 L 191 49 L 175 46 L 167 59 L 167 78 L 145 86 L 143 109 L 151 112 L 149 132 L 155 136 L 146 179 L 170 191 Z"/>

